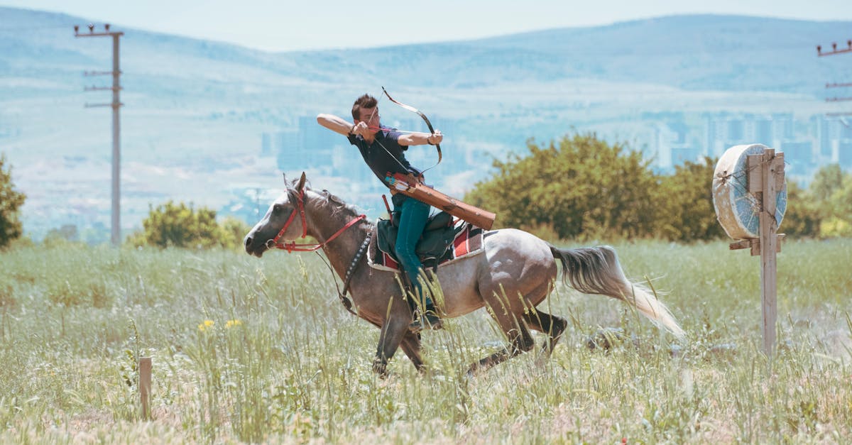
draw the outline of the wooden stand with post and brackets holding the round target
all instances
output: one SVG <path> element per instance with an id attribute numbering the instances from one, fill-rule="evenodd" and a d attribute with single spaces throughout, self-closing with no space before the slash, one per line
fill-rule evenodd
<path id="1" fill-rule="evenodd" d="M 748 193 L 758 206 L 759 234 L 757 238 L 738 240 L 730 244 L 730 250 L 750 249 L 751 256 L 760 256 L 760 293 L 763 309 L 763 353 L 774 355 L 777 344 L 775 322 L 778 319 L 777 263 L 776 254 L 781 251 L 784 234 L 778 234 L 776 203 L 784 188 L 784 153 L 775 153 L 773 148 L 764 148 L 761 154 L 747 156 Z M 721 221 L 721 220 L 720 220 Z M 727 230 L 727 228 L 726 228 Z"/>

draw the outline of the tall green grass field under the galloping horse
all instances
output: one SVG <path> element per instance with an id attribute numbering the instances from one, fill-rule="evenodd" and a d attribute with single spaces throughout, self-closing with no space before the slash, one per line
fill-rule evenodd
<path id="1" fill-rule="evenodd" d="M 0 442 L 843 442 L 852 437 L 852 240 L 779 257 L 780 347 L 759 350 L 759 260 L 727 243 L 615 246 L 687 331 L 557 286 L 569 327 L 467 378 L 504 338 L 483 311 L 424 332 L 430 372 L 337 301 L 311 254 L 59 246 L 0 252 Z M 604 327 L 628 338 L 608 352 Z M 540 343 L 543 336 L 537 337 Z M 153 358 L 152 418 L 136 362 Z"/>

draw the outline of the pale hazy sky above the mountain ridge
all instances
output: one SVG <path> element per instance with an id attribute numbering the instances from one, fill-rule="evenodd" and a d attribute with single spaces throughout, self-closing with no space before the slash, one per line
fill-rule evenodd
<path id="1" fill-rule="evenodd" d="M 671 14 L 852 20 L 850 0 L 0 0 L 0 6 L 280 51 L 482 38 Z"/>

